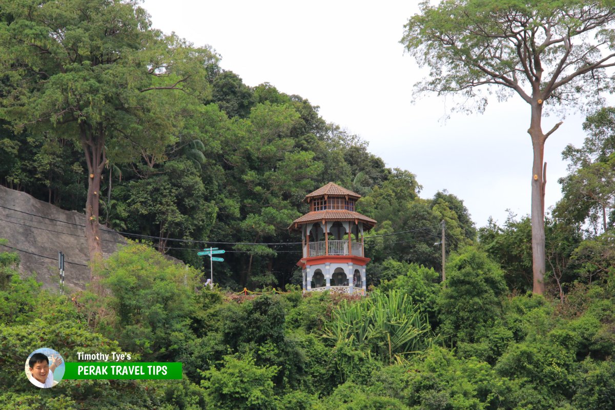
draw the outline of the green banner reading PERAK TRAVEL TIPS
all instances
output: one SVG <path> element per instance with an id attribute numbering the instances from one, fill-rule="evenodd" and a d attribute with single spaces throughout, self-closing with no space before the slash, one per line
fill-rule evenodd
<path id="1" fill-rule="evenodd" d="M 181 379 L 181 363 L 66 363 L 64 379 Z"/>

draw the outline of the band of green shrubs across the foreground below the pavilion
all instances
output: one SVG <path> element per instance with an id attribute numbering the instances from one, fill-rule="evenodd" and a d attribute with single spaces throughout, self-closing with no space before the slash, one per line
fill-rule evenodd
<path id="1" fill-rule="evenodd" d="M 61 296 L 0 254 L 0 407 L 25 409 L 610 409 L 613 277 L 566 304 L 510 294 L 483 251 L 438 275 L 400 272 L 368 298 L 289 289 L 223 293 L 199 272 L 130 245 L 105 262 L 106 296 Z M 33 329 L 35 329 L 33 331 Z M 44 344 L 181 361 L 182 380 L 62 380 L 34 391 L 23 361 Z"/>

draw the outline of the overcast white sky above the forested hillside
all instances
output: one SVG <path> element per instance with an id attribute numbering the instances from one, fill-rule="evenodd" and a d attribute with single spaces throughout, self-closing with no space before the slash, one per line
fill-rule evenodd
<path id="1" fill-rule="evenodd" d="M 530 108 L 514 96 L 490 101 L 484 114 L 449 113 L 451 100 L 411 104 L 425 72 L 399 43 L 418 12 L 413 1 L 145 0 L 153 26 L 195 45 L 209 44 L 221 66 L 250 86 L 269 82 L 320 106 L 335 122 L 370 143 L 387 167 L 416 174 L 421 197 L 447 189 L 464 200 L 477 227 L 507 209 L 530 213 Z M 549 130 L 560 117 L 544 120 Z M 569 112 L 546 143 L 546 207 L 561 197 L 561 151 L 582 144 L 584 116 Z"/>

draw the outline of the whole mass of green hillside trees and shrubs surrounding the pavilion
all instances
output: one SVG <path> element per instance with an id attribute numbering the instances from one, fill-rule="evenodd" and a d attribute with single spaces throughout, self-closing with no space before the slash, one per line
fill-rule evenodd
<path id="1" fill-rule="evenodd" d="M 0 247 L 0 408 L 615 408 L 615 109 L 563 152 L 536 296 L 528 216 L 477 228 L 451 192 L 421 198 L 412 170 L 387 168 L 306 98 L 245 85 L 134 2 L 0 6 L 0 183 L 85 209 L 95 262 L 91 286 L 63 294 Z M 300 290 L 288 226 L 330 181 L 378 221 L 366 297 Z M 14 212 L 0 208 L 2 223 L 26 223 Z M 134 242 L 92 258 L 98 222 Z M 227 251 L 213 289 L 205 246 Z M 66 361 L 180 361 L 183 379 L 34 390 L 23 363 L 42 346 Z"/>

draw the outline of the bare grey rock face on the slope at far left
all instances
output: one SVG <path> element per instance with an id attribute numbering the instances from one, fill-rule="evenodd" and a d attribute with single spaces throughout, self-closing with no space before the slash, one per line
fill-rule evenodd
<path id="1" fill-rule="evenodd" d="M 105 257 L 126 243 L 122 235 L 100 226 Z M 84 290 L 90 280 L 90 260 L 85 242 L 85 215 L 64 211 L 25 192 L 0 186 L 0 251 L 15 250 L 22 276 L 36 275 L 46 288 L 60 284 L 58 251 L 64 253 L 65 285 Z"/>

